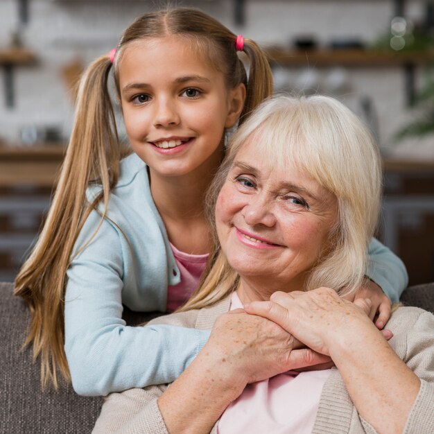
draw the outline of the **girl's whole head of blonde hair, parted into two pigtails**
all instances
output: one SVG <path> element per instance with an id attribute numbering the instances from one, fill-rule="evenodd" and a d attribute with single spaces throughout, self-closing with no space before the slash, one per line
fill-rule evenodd
<path id="1" fill-rule="evenodd" d="M 244 40 L 249 73 L 236 53 L 236 35 L 200 10 L 175 8 L 150 12 L 128 27 L 116 47 L 114 63 L 103 55 L 80 81 L 76 119 L 53 203 L 40 237 L 15 280 L 15 294 L 31 311 L 26 343 L 33 342 L 34 358 L 41 357 L 42 385 L 58 387 L 58 371 L 70 380 L 64 353 L 64 290 L 71 252 L 83 223 L 98 203 L 101 219 L 107 218 L 110 191 L 119 178 L 122 157 L 114 109 L 107 87 L 110 71 L 119 97 L 118 71 L 125 48 L 138 40 L 179 35 L 194 44 L 216 69 L 222 71 L 228 89 L 243 83 L 246 100 L 239 123 L 272 92 L 272 73 L 266 55 L 252 40 Z M 86 189 L 91 183 L 102 189 L 92 203 Z"/>

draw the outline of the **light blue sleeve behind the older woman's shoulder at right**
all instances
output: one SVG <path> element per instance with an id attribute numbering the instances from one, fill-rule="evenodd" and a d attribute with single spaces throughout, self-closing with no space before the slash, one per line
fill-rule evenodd
<path id="1" fill-rule="evenodd" d="M 368 247 L 370 267 L 367 277 L 383 290 L 392 302 L 397 302 L 408 285 L 406 267 L 396 254 L 372 238 Z"/>

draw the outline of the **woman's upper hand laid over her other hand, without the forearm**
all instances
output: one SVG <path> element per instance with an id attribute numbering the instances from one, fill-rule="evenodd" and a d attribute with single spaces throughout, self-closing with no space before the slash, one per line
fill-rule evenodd
<path id="1" fill-rule="evenodd" d="M 330 288 L 318 288 L 277 292 L 269 302 L 245 305 L 245 311 L 276 322 L 314 351 L 333 358 L 333 347 L 351 345 L 365 333 L 379 333 L 367 316 L 371 306 L 370 300 L 354 304 Z"/>

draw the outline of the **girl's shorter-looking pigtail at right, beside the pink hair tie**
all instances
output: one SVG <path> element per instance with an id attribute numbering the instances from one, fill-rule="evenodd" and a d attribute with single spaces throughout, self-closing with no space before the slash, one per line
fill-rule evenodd
<path id="1" fill-rule="evenodd" d="M 246 115 L 272 94 L 272 71 L 266 53 L 256 42 L 249 39 L 244 40 L 243 51 L 248 56 L 250 71 L 239 125 L 243 123 Z"/>

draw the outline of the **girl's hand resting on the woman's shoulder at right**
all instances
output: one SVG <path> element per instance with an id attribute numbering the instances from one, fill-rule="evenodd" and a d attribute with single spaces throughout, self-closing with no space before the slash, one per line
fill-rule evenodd
<path id="1" fill-rule="evenodd" d="M 367 314 L 371 320 L 374 320 L 378 314 L 375 320 L 375 325 L 379 330 L 383 329 L 386 322 L 388 322 L 390 318 L 392 304 L 389 300 L 389 297 L 385 295 L 383 290 L 370 279 L 365 279 L 363 281 L 363 286 L 356 294 L 347 295 L 343 298 L 345 298 L 345 300 L 349 300 L 350 302 L 356 302 L 356 300 L 364 300 L 369 298 L 372 302 L 372 306 Z"/>

